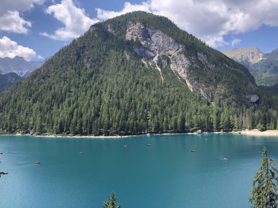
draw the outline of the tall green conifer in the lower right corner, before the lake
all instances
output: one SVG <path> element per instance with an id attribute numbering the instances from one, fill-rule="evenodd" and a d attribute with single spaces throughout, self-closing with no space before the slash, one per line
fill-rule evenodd
<path id="1" fill-rule="evenodd" d="M 261 155 L 261 167 L 254 175 L 253 188 L 250 190 L 252 197 L 249 201 L 252 207 L 274 208 L 278 206 L 278 171 L 274 160 L 268 159 L 266 147 L 263 147 Z"/>

